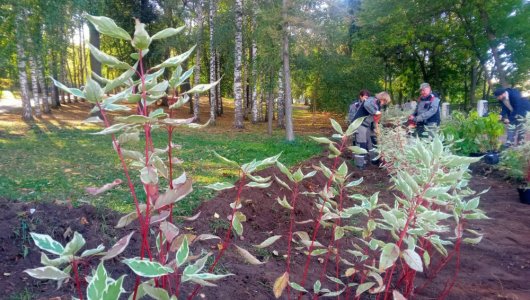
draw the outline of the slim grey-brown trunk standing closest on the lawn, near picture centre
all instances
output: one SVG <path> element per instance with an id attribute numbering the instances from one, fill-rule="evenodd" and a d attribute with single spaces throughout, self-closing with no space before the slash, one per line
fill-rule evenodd
<path id="1" fill-rule="evenodd" d="M 287 20 L 287 8 L 289 0 L 282 1 L 282 19 L 283 19 L 283 81 L 285 85 L 285 137 L 287 141 L 294 141 L 293 130 L 293 108 L 291 100 L 291 70 L 289 67 L 289 22 Z"/>

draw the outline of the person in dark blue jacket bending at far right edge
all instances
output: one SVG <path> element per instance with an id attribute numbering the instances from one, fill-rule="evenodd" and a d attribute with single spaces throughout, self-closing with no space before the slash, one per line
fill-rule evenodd
<path id="1" fill-rule="evenodd" d="M 526 134 L 524 118 L 530 111 L 530 102 L 524 99 L 517 89 L 512 88 L 498 88 L 493 95 L 501 102 L 501 118 L 508 125 L 505 146 L 522 144 Z"/>

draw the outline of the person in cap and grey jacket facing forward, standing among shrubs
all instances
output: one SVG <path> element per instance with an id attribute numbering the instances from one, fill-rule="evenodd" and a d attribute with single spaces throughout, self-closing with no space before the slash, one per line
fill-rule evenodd
<path id="1" fill-rule="evenodd" d="M 416 134 L 422 136 L 424 132 L 430 135 L 440 126 L 440 98 L 433 94 L 430 84 L 420 85 L 420 99 L 414 113 L 409 120 L 416 123 Z"/>

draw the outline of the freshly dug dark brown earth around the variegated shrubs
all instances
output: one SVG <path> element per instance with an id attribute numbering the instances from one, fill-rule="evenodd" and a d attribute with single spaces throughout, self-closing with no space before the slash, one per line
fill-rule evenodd
<path id="1" fill-rule="evenodd" d="M 301 167 L 304 173 L 312 170 L 313 165 L 318 165 L 320 158 L 315 158 L 304 163 Z M 330 160 L 324 159 L 326 164 Z M 276 174 L 284 178 L 275 169 L 260 172 L 261 176 Z M 381 191 L 379 199 L 382 202 L 392 203 L 393 196 L 389 190 L 388 176 L 384 170 L 371 166 L 366 170 L 354 169 L 353 178 L 363 177 L 364 182 L 356 188 L 356 192 L 371 195 Z M 301 191 L 318 191 L 318 186 L 323 186 L 326 178 L 318 174 L 307 183 L 303 184 Z M 457 282 L 447 297 L 448 299 L 530 299 L 530 205 L 519 203 L 515 185 L 506 182 L 496 173 L 484 172 L 476 169 L 471 187 L 480 191 L 491 188 L 481 197 L 480 207 L 491 218 L 470 222 L 468 228 L 484 234 L 482 242 L 476 246 L 463 245 L 461 251 L 461 268 Z M 200 295 L 206 299 L 274 299 L 272 285 L 274 280 L 285 271 L 283 255 L 286 251 L 287 241 L 280 239 L 275 244 L 264 250 L 258 250 L 252 245 L 259 244 L 272 235 L 287 233 L 289 215 L 276 199 L 289 196 L 285 188 L 273 183 L 266 190 L 245 189 L 242 193 L 242 212 L 247 216 L 244 223 L 243 238 L 234 242 L 236 245 L 249 250 L 261 261 L 266 263 L 258 266 L 244 262 L 235 247 L 231 246 L 216 268 L 216 272 L 233 273 L 218 282 L 218 287 L 202 288 Z M 181 224 L 180 227 L 189 233 L 212 233 L 224 237 L 230 213 L 229 203 L 234 200 L 234 192 L 221 192 L 216 198 L 204 203 L 199 210 L 200 217 L 192 222 Z M 352 200 L 345 200 L 351 206 Z M 71 283 L 65 284 L 56 290 L 54 282 L 33 279 L 22 271 L 40 265 L 40 252 L 29 238 L 29 231 L 51 234 L 61 243 L 69 240 L 65 232 L 78 231 L 86 238 L 89 247 L 96 247 L 100 243 L 110 247 L 117 239 L 126 235 L 130 229 L 114 229 L 119 215 L 91 206 L 71 208 L 68 205 L 51 203 L 13 203 L 6 199 L 0 200 L 0 266 L 2 280 L 0 289 L 4 291 L 7 299 L 21 299 L 21 295 L 29 294 L 31 299 L 48 299 L 62 297 L 70 299 L 75 291 Z M 33 210 L 35 211 L 31 213 Z M 30 211 L 31 210 L 31 211 Z M 318 216 L 318 211 L 313 201 L 301 196 L 297 202 L 296 221 L 312 220 Z M 312 233 L 313 223 L 297 224 L 295 231 Z M 70 230 L 68 230 L 70 228 Z M 328 245 L 330 228 L 322 228 L 317 240 Z M 341 247 L 351 245 L 354 238 L 341 239 Z M 195 253 L 199 249 L 209 249 L 215 252 L 215 242 L 202 241 L 194 244 Z M 138 235 L 132 238 L 129 248 L 122 257 L 137 256 L 139 248 Z M 277 252 L 276 252 L 277 251 Z M 278 254 L 276 254 L 278 253 Z M 323 256 L 322 256 L 323 257 Z M 434 259 L 433 262 L 435 262 Z M 97 261 L 92 261 L 97 265 Z M 300 282 L 305 263 L 302 250 L 293 251 L 292 276 L 295 282 Z M 114 259 L 106 262 L 106 268 L 113 278 L 119 274 L 127 273 L 125 288 L 131 291 L 134 275 L 125 265 Z M 335 264 L 330 262 L 328 275 L 334 275 Z M 317 258 L 311 261 L 306 287 L 310 289 L 312 283 L 320 278 L 321 262 Z M 87 274 L 87 269 L 84 271 Z M 417 291 L 415 299 L 435 299 L 443 290 L 445 282 L 455 273 L 454 263 L 450 263 L 426 288 Z M 418 287 L 425 282 L 425 277 L 418 275 Z M 324 282 L 329 282 L 324 278 Z M 325 284 L 330 289 L 334 285 Z M 185 285 L 180 298 L 186 297 L 193 286 Z M 343 294 L 345 296 L 346 294 Z M 198 297 L 199 298 L 199 297 Z M 285 297 L 286 298 L 286 297 Z M 309 298 L 309 297 L 308 297 Z M 22 298 L 24 299 L 24 298 Z"/>

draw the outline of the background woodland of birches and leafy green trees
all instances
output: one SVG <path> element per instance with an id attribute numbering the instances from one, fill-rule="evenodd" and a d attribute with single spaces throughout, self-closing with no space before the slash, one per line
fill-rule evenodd
<path id="1" fill-rule="evenodd" d="M 118 76 L 90 59 L 87 43 L 128 63 L 132 48 L 100 37 L 83 18 L 87 12 L 111 17 L 128 32 L 134 31 L 133 17 L 153 33 L 185 26 L 185 34 L 155 41 L 145 63 L 196 44 L 195 57 L 187 61 L 187 67 L 195 65 L 195 78 L 187 87 L 222 78 L 210 91 L 210 124 L 223 114 L 223 98 L 235 101 L 237 128 L 244 118 L 260 122 L 269 115 L 292 131 L 291 118 L 284 117 L 291 114 L 292 99 L 315 110 L 345 112 L 362 88 L 388 90 L 403 103 L 417 97 L 420 82 L 431 83 L 444 101 L 469 108 L 498 84 L 528 89 L 528 3 L 8 0 L 0 6 L 0 80 L 2 89 L 20 91 L 23 117 L 31 119 L 77 101 L 49 77 L 82 87 L 90 69 Z M 194 116 L 197 99 L 190 102 Z"/>

